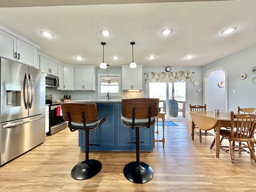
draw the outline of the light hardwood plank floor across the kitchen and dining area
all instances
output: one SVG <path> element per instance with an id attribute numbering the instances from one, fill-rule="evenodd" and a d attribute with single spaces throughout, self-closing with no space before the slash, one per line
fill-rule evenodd
<path id="1" fill-rule="evenodd" d="M 154 170 L 152 180 L 134 184 L 123 174 L 136 160 L 135 152 L 90 152 L 102 170 L 88 180 L 74 180 L 70 171 L 84 160 L 78 132 L 68 128 L 47 136 L 46 141 L 0 167 L 1 192 L 246 192 L 256 191 L 256 164 L 246 152 L 230 155 L 210 149 L 213 136 L 191 140 L 191 122 L 166 126 L 165 148 L 157 142 L 154 152 L 141 152 L 140 160 Z M 162 128 L 160 127 L 160 130 Z M 158 137 L 161 139 L 159 133 Z M 157 135 L 156 135 L 157 137 Z M 225 142 L 225 141 L 224 141 Z"/>

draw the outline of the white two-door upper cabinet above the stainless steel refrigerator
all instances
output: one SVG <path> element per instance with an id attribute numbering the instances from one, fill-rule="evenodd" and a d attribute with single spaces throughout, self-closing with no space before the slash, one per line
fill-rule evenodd
<path id="1" fill-rule="evenodd" d="M 2 26 L 0 26 L 2 28 Z M 37 66 L 37 49 L 26 41 L 0 30 L 0 56 L 29 66 Z"/>

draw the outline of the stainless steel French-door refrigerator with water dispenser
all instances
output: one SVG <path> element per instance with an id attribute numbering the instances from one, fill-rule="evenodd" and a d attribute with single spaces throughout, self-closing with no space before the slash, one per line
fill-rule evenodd
<path id="1" fill-rule="evenodd" d="M 45 73 L 0 58 L 0 165 L 45 140 Z"/>

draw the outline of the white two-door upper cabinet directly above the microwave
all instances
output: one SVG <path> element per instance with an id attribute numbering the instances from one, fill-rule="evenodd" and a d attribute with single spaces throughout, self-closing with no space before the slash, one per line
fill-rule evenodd
<path id="1" fill-rule="evenodd" d="M 40 70 L 52 75 L 58 74 L 58 63 L 40 55 Z"/>

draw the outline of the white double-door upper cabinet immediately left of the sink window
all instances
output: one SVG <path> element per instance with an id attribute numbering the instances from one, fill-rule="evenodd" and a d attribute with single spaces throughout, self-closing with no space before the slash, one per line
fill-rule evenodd
<path id="1" fill-rule="evenodd" d="M 74 68 L 74 90 L 96 90 L 95 69 L 92 67 Z"/>

